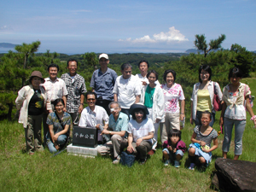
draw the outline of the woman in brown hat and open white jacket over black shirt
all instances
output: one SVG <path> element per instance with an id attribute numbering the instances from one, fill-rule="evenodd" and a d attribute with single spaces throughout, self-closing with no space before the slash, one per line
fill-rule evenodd
<path id="1" fill-rule="evenodd" d="M 46 104 L 46 93 L 42 73 L 33 71 L 29 85 L 22 87 L 15 100 L 16 108 L 20 110 L 19 123 L 25 128 L 26 150 L 28 154 L 43 151 L 41 138 L 42 113 Z"/>

